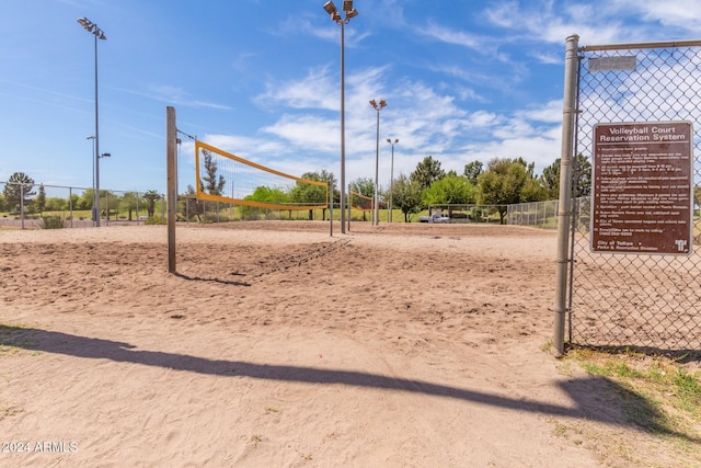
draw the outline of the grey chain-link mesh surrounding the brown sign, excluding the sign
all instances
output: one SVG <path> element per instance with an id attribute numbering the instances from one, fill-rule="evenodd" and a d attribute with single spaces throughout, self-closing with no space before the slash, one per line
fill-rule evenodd
<path id="1" fill-rule="evenodd" d="M 581 47 L 578 53 L 574 155 L 591 158 L 594 129 L 599 124 L 690 121 L 697 202 L 691 202 L 696 208 L 693 246 L 687 256 L 595 253 L 590 244 L 590 201 L 573 201 L 568 341 L 656 352 L 699 351 L 701 47 L 667 43 Z M 576 171 L 574 167 L 574 180 Z M 524 213 L 536 216 L 536 212 Z"/>

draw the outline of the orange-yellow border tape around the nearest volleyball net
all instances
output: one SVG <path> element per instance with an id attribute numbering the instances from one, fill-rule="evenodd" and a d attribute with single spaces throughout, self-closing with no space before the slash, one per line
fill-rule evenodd
<path id="1" fill-rule="evenodd" d="M 286 204 L 277 204 L 277 203 L 266 203 L 266 202 L 256 202 L 253 199 L 243 199 L 243 198 L 232 198 L 229 196 L 222 196 L 222 195 L 212 195 L 210 193 L 205 193 L 202 190 L 202 183 L 200 183 L 200 178 L 199 178 L 199 150 L 200 149 L 207 149 L 209 151 L 212 151 L 219 156 L 222 156 L 225 158 L 229 158 L 233 161 L 240 162 L 242 164 L 249 165 L 251 168 L 255 168 L 258 169 L 261 171 L 264 172 L 268 172 L 271 174 L 275 174 L 275 175 L 279 175 L 281 178 L 286 178 L 286 179 L 290 179 L 294 180 L 296 182 L 301 182 L 301 183 L 306 183 L 306 184 L 310 184 L 310 185 L 319 185 L 319 186 L 323 186 L 326 190 L 326 201 L 329 199 L 329 184 L 326 184 L 325 182 L 320 182 L 320 181 L 310 181 L 308 179 L 302 179 L 302 178 L 298 178 L 296 175 L 290 175 L 290 174 L 286 174 L 285 172 L 280 172 L 280 171 L 276 171 L 275 169 L 271 169 L 271 168 L 266 168 L 265 165 L 261 165 L 257 164 L 253 161 L 249 161 L 246 159 L 243 159 L 239 156 L 232 155 L 230 152 L 223 151 L 219 148 L 216 148 L 211 145 L 207 145 L 206 142 L 199 141 L 199 140 L 195 140 L 195 178 L 196 178 L 196 186 L 197 186 L 197 198 L 199 199 L 206 199 L 209 202 L 220 202 L 220 203 L 228 203 L 228 204 L 232 204 L 232 205 L 243 205 L 243 206 L 252 206 L 255 208 L 268 208 L 268 209 L 291 209 L 291 210 L 301 210 L 301 209 L 319 209 L 319 208 L 326 208 L 327 207 L 327 203 L 324 204 L 318 204 L 318 205 L 286 205 Z"/>

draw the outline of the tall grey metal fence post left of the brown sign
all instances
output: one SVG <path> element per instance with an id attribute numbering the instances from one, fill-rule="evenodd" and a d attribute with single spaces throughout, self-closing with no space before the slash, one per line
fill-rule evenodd
<path id="1" fill-rule="evenodd" d="M 574 159 L 574 130 L 576 115 L 576 88 L 579 36 L 571 35 L 565 41 L 565 83 L 562 102 L 562 148 L 560 156 L 560 203 L 558 209 L 558 255 L 555 273 L 555 317 L 553 346 L 558 354 L 564 353 L 565 313 L 567 311 L 567 251 L 572 216 L 572 161 Z"/>

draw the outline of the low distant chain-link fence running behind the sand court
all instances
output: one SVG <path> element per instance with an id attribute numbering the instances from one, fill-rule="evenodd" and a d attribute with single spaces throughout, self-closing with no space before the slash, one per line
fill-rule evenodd
<path id="1" fill-rule="evenodd" d="M 41 189 L 43 187 L 43 189 Z M 9 190 L 5 190 L 9 189 Z M 41 194 L 43 190 L 44 195 Z M 8 193 L 14 199 L 8 199 Z M 94 227 L 93 190 L 91 187 L 62 186 L 47 184 L 10 184 L 0 182 L 0 227 L 36 228 L 44 217 L 58 217 L 69 228 Z M 149 194 L 152 203 L 146 198 Z M 12 195 L 10 196 L 12 198 Z M 43 201 L 42 201 L 43 198 Z M 100 191 L 101 224 L 118 226 L 143 224 L 164 224 L 166 213 L 164 194 L 153 191 Z M 588 207 L 588 205 L 579 204 Z M 586 208 L 588 209 L 588 208 Z M 555 228 L 558 226 L 558 201 L 531 202 L 516 205 L 476 205 L 444 204 L 429 205 L 429 213 L 440 210 L 450 218 L 450 222 L 501 222 L 516 226 L 537 226 Z M 338 204 L 334 212 L 340 213 Z M 337 218 L 338 215 L 334 214 Z M 177 220 L 184 222 L 229 222 L 240 220 L 327 220 L 327 208 L 299 210 L 255 208 L 231 205 L 221 202 L 197 199 L 194 195 L 179 195 Z M 581 214 L 579 220 L 587 220 Z"/>

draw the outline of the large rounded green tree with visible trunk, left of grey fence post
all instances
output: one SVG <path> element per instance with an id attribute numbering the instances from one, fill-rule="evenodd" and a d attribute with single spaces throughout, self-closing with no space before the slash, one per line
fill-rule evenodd
<path id="1" fill-rule="evenodd" d="M 531 179 L 521 160 L 492 159 L 479 178 L 480 203 L 497 205 L 499 222 L 504 224 L 506 205 L 524 202 L 521 192 Z"/>

